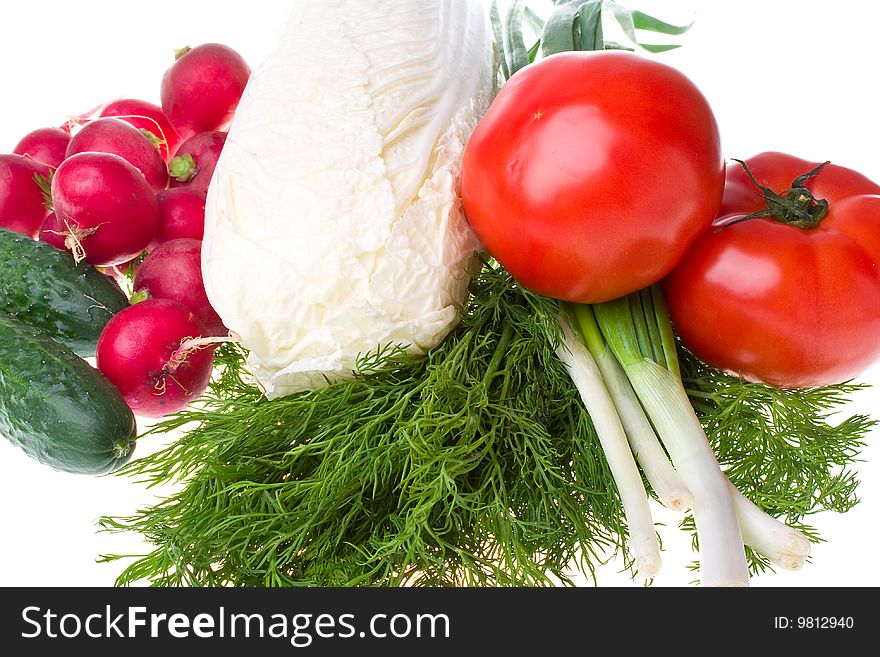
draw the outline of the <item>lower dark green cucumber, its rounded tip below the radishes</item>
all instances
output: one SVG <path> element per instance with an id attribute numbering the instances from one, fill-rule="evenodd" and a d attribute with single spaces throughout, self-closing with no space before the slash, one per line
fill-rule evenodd
<path id="1" fill-rule="evenodd" d="M 0 434 L 56 470 L 104 474 L 131 458 L 137 428 L 103 374 L 0 311 Z"/>

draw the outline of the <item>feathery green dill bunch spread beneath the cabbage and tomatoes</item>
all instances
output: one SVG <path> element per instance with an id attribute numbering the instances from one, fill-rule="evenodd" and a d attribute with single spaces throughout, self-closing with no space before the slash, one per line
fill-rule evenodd
<path id="1" fill-rule="evenodd" d="M 155 546 L 118 583 L 541 586 L 592 576 L 624 554 L 626 527 L 555 355 L 557 312 L 486 266 L 460 325 L 426 357 L 389 348 L 364 357 L 352 381 L 273 401 L 224 345 L 204 404 L 149 434 L 187 431 L 122 471 L 179 489 L 102 520 Z M 719 460 L 759 506 L 797 520 L 856 502 L 845 468 L 871 423 L 831 427 L 823 415 L 852 386 L 783 392 L 687 354 L 682 368 Z"/>

